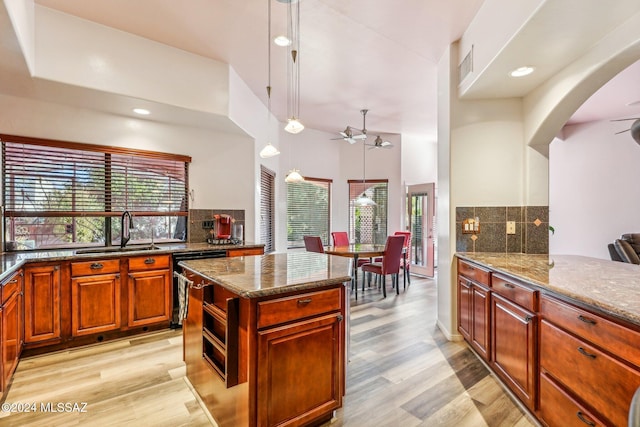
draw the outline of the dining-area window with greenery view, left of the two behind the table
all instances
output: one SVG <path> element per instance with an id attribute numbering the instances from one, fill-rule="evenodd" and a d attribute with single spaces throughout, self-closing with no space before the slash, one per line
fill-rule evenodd
<path id="1" fill-rule="evenodd" d="M 329 244 L 331 180 L 306 178 L 287 183 L 287 248 L 303 248 L 304 236 Z"/>

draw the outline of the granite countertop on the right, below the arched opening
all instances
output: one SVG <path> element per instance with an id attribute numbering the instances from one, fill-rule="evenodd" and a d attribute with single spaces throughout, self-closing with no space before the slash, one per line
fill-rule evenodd
<path id="1" fill-rule="evenodd" d="M 640 325 L 640 266 L 578 255 L 456 254 Z"/>

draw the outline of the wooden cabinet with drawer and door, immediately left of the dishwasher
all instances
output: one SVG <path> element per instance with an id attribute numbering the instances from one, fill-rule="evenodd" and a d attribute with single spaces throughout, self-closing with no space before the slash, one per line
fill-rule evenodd
<path id="1" fill-rule="evenodd" d="M 145 255 L 128 260 L 128 325 L 150 325 L 171 319 L 170 255 Z"/>

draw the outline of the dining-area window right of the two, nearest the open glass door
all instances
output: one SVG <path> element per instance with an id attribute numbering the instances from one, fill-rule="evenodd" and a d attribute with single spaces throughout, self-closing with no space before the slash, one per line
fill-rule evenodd
<path id="1" fill-rule="evenodd" d="M 375 206 L 356 206 L 358 197 L 366 195 Z M 388 181 L 349 180 L 349 236 L 357 243 L 384 245 L 387 241 Z"/>

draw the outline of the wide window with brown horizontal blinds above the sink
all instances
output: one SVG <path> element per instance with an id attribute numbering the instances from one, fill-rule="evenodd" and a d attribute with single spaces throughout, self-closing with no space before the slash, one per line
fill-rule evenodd
<path id="1" fill-rule="evenodd" d="M 6 240 L 16 249 L 186 238 L 188 165 L 174 154 L 0 135 Z"/>

